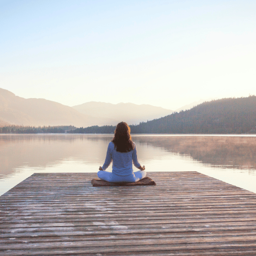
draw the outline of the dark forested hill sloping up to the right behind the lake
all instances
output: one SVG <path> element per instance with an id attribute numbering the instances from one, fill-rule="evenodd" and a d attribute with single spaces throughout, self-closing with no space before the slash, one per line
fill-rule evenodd
<path id="1" fill-rule="evenodd" d="M 125 121 L 125 120 L 120 120 Z M 190 110 L 130 125 L 131 133 L 250 133 L 256 127 L 256 96 L 204 102 Z M 75 129 L 73 133 L 110 133 L 114 126 Z"/>

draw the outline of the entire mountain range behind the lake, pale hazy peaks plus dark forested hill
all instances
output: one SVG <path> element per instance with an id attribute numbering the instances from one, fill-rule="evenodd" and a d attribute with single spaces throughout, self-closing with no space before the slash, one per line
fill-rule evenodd
<path id="1" fill-rule="evenodd" d="M 193 102 L 192 104 L 196 104 Z M 0 127 L 75 126 L 75 133 L 109 133 L 126 121 L 132 133 L 255 133 L 256 96 L 205 101 L 174 112 L 151 105 L 86 102 L 73 107 L 24 99 L 0 89 Z M 85 127 L 85 128 L 83 128 Z"/>

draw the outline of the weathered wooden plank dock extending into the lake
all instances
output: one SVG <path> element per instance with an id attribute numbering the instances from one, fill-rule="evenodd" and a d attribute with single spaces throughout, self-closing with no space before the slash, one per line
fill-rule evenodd
<path id="1" fill-rule="evenodd" d="M 197 172 L 147 176 L 156 186 L 31 175 L 0 196 L 0 255 L 256 255 L 255 193 Z"/>

